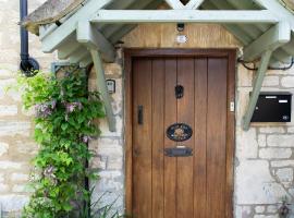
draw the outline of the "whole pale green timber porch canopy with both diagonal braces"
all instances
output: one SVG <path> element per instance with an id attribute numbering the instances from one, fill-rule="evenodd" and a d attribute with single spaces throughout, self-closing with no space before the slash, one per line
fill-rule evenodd
<path id="1" fill-rule="evenodd" d="M 59 59 L 81 66 L 94 62 L 109 126 L 114 131 L 101 64 L 101 59 L 114 61 L 114 45 L 139 23 L 221 24 L 243 45 L 243 60 L 260 60 L 243 120 L 248 130 L 268 65 L 290 63 L 294 57 L 293 1 L 48 0 L 23 25 L 39 35 L 44 52 L 57 50 Z M 162 3 L 170 9 L 157 10 Z"/>

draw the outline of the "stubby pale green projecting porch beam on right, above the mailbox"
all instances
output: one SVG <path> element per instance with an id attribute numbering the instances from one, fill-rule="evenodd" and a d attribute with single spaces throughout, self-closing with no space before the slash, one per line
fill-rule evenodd
<path id="1" fill-rule="evenodd" d="M 266 50 L 274 51 L 290 40 L 290 24 L 287 22 L 280 22 L 244 48 L 244 60 L 253 61 L 259 58 Z"/>

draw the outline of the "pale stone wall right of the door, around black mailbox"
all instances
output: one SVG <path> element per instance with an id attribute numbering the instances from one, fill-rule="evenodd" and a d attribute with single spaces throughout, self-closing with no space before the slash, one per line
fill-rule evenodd
<path id="1" fill-rule="evenodd" d="M 294 122 L 255 124 L 244 132 L 241 120 L 252 84 L 253 72 L 240 65 L 236 90 L 235 217 L 274 218 L 279 217 L 278 208 L 283 198 L 294 203 Z M 262 90 L 294 93 L 294 68 L 289 71 L 269 71 Z M 294 207 L 290 207 L 291 217 L 294 217 Z"/>

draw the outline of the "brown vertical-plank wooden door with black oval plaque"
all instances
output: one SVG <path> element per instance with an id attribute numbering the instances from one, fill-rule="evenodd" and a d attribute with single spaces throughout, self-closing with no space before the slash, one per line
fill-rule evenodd
<path id="1" fill-rule="evenodd" d="M 228 57 L 133 59 L 128 189 L 134 218 L 231 217 L 229 72 Z M 181 98 L 176 85 L 184 87 Z M 189 125 L 192 137 L 170 140 L 167 129 L 174 123 Z M 193 155 L 164 155 L 176 146 L 192 148 Z"/>

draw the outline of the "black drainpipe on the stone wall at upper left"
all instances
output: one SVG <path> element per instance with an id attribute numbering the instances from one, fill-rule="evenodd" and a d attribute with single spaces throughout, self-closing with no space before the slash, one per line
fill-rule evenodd
<path id="1" fill-rule="evenodd" d="M 21 21 L 27 16 L 27 0 L 20 0 Z M 20 69 L 25 76 L 34 76 L 39 70 L 39 63 L 28 55 L 28 33 L 21 26 L 21 63 Z"/>

